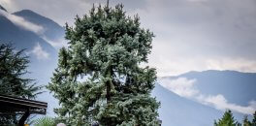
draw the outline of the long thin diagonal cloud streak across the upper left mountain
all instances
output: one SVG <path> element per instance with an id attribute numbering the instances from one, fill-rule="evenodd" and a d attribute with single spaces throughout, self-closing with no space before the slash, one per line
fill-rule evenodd
<path id="1" fill-rule="evenodd" d="M 44 31 L 44 28 L 42 26 L 34 24 L 34 23 L 24 19 L 23 17 L 11 15 L 2 10 L 0 10 L 0 16 L 6 16 L 9 20 L 11 20 L 17 26 L 19 26 L 25 30 L 32 31 L 36 34 L 41 34 Z"/>

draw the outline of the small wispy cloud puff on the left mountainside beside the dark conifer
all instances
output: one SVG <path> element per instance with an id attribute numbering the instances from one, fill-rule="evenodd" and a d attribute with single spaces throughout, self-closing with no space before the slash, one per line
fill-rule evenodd
<path id="1" fill-rule="evenodd" d="M 34 54 L 39 60 L 46 60 L 49 58 L 48 52 L 45 51 L 39 43 L 37 43 L 37 45 L 33 47 L 31 53 Z"/>

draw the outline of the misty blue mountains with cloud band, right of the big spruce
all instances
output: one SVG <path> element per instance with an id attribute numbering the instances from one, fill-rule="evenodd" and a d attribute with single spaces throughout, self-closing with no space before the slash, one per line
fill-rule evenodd
<path id="1" fill-rule="evenodd" d="M 211 120 L 227 109 L 241 122 L 256 110 L 255 73 L 208 70 L 160 78 L 158 83 L 153 95 L 162 103 L 160 117 L 169 118 L 165 125 L 213 125 Z M 177 121 L 183 117 L 185 122 Z"/>

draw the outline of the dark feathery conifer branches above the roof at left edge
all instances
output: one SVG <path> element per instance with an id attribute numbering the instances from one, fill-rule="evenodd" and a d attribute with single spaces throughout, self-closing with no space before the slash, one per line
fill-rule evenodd
<path id="1" fill-rule="evenodd" d="M 41 86 L 36 86 L 33 79 L 24 79 L 28 57 L 23 56 L 24 50 L 15 51 L 10 44 L 0 45 L 0 94 L 11 95 L 26 99 L 35 99 Z M 16 115 L 0 116 L 0 125 L 16 124 Z"/>

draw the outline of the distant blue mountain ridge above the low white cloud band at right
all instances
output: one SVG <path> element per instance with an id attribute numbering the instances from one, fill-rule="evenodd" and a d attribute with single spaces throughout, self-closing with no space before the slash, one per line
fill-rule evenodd
<path id="1" fill-rule="evenodd" d="M 196 79 L 195 87 L 203 94 L 222 94 L 235 104 L 247 106 L 249 101 L 256 101 L 256 74 L 236 71 L 189 72 L 169 79 Z M 166 79 L 165 78 L 165 79 Z"/>

